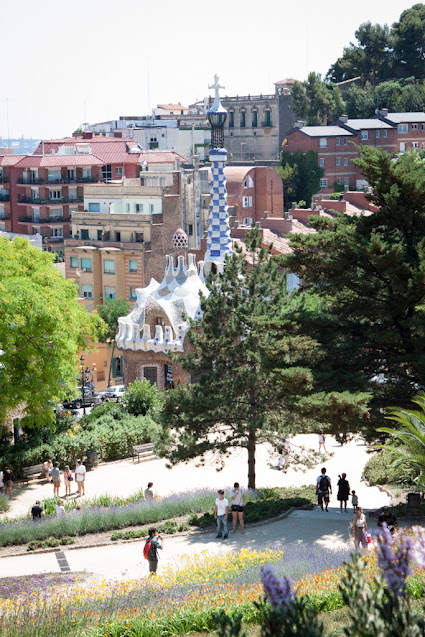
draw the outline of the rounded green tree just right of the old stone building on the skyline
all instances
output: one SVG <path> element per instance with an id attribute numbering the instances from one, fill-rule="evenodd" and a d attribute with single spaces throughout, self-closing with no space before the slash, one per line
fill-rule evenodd
<path id="1" fill-rule="evenodd" d="M 344 112 L 339 88 L 324 82 L 319 73 L 309 73 L 306 82 L 295 82 L 291 96 L 297 117 L 307 126 L 330 124 Z"/>

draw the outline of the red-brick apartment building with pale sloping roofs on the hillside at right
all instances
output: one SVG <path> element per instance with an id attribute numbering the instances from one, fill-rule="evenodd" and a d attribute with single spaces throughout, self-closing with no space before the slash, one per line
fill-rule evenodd
<path id="1" fill-rule="evenodd" d="M 296 122 L 284 140 L 283 152 L 314 150 L 325 174 L 320 192 L 333 192 L 338 186 L 350 190 L 367 185 L 360 169 L 353 163 L 358 146 L 374 146 L 390 154 L 409 148 L 425 147 L 424 113 L 388 113 L 382 109 L 370 119 L 349 119 L 341 115 L 331 126 L 304 126 Z"/>

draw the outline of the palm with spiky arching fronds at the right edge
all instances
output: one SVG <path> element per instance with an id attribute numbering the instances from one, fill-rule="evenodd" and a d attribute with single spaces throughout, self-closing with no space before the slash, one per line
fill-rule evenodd
<path id="1" fill-rule="evenodd" d="M 394 454 L 394 469 L 405 469 L 419 485 L 425 484 L 425 392 L 419 392 L 413 399 L 419 410 L 393 407 L 387 418 L 398 422 L 399 429 L 380 427 L 378 431 L 387 433 L 392 443 L 385 450 Z M 377 445 L 375 448 L 383 448 Z"/>

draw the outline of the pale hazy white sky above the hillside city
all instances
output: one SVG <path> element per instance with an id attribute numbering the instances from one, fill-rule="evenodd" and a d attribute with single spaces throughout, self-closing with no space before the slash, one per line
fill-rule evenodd
<path id="1" fill-rule="evenodd" d="M 325 74 L 362 22 L 392 24 L 413 4 L 3 2 L 0 135 L 67 136 L 84 121 L 145 115 L 162 102 L 187 105 L 208 94 L 214 73 L 227 95 L 273 93 L 282 78 Z"/>

